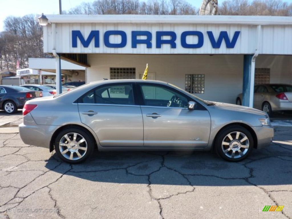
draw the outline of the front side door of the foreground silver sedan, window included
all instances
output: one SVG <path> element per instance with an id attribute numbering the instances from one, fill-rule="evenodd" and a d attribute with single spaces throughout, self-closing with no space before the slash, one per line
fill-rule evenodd
<path id="1" fill-rule="evenodd" d="M 166 85 L 141 83 L 139 91 L 144 147 L 207 146 L 211 119 L 205 107 L 197 103 L 189 110 L 191 98 Z"/>

